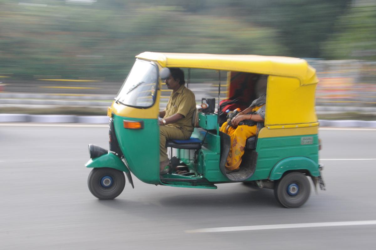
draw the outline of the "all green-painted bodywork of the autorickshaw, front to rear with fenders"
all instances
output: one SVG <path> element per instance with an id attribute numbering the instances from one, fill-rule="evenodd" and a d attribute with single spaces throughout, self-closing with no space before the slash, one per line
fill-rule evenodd
<path id="1" fill-rule="evenodd" d="M 220 163 L 220 137 L 215 133 L 218 129 L 217 117 L 211 115 L 199 114 L 205 119 L 205 127 L 212 128 L 211 131 L 202 133 L 202 128 L 194 130 L 193 137 L 204 139 L 202 149 L 197 155 L 197 165 L 194 167 L 193 150 L 181 149 L 179 154 L 183 162 L 194 169 L 198 177 L 191 178 L 201 180 L 205 177 L 208 182 L 192 184 L 183 181 L 171 181 L 162 183 L 159 179 L 159 125 L 157 119 L 134 119 L 113 115 L 115 133 L 118 138 L 119 146 L 124 154 L 127 166 L 130 171 L 141 181 L 150 184 L 162 184 L 166 186 L 194 187 L 194 188 L 217 188 L 214 183 L 232 182 L 222 174 L 219 168 Z M 209 117 L 209 118 L 208 118 Z M 215 119 L 214 119 L 215 117 Z M 123 127 L 123 120 L 137 120 L 144 122 L 144 129 L 130 130 Z M 214 125 L 212 122 L 215 123 Z M 208 123 L 209 122 L 209 123 Z M 208 125 L 209 124 L 209 125 Z M 212 126 L 212 127 L 210 127 Z M 312 137 L 311 144 L 301 144 L 302 137 Z M 318 171 L 318 135 L 300 135 L 300 136 L 282 136 L 260 138 L 257 141 L 256 151 L 258 159 L 255 173 L 247 179 L 252 180 L 278 180 L 285 171 L 306 169 L 312 176 L 319 176 Z M 190 152 L 190 153 L 189 153 Z M 113 154 L 112 154 L 113 155 Z M 113 155 L 116 157 L 115 155 Z M 103 157 L 103 155 L 101 156 Z M 108 157 L 103 160 L 98 157 L 87 163 L 88 167 L 108 166 L 127 171 L 126 166 L 118 157 Z M 97 163 L 98 161 L 98 163 Z M 119 162 L 122 164 L 120 165 Z M 170 178 L 177 178 L 171 176 Z"/>

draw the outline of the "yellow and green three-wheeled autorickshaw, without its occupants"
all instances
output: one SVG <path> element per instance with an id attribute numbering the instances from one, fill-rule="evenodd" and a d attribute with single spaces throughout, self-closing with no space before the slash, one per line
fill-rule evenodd
<path id="1" fill-rule="evenodd" d="M 222 83 L 227 86 L 226 98 L 237 97 L 243 105 L 256 98 L 256 82 L 261 76 L 265 79 L 265 126 L 247 139 L 240 171 L 228 173 L 225 168 L 230 137 L 219 131 L 218 95 L 217 112 L 206 112 L 203 108 L 208 102 L 203 98 L 205 105 L 196 110 L 189 140 L 166 143 L 171 148 L 171 164 L 186 171 L 160 175 L 158 114 L 168 67 L 226 72 L 227 82 Z M 285 207 L 302 206 L 311 192 L 309 178 L 316 190 L 317 186 L 324 189 L 323 165 L 318 163 L 317 82 L 315 69 L 299 58 L 141 53 L 108 108 L 109 150 L 89 145 L 91 159 L 86 167 L 93 168 L 89 190 L 99 199 L 114 199 L 124 189 L 125 172 L 133 188 L 131 173 L 144 183 L 171 187 L 216 189 L 218 183 L 242 182 L 274 189 L 277 201 Z"/>

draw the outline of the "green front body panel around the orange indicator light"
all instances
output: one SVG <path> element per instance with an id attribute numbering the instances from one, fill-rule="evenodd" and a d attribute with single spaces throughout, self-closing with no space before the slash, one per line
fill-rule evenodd
<path id="1" fill-rule="evenodd" d="M 157 119 L 113 115 L 115 134 L 130 171 L 141 181 L 159 184 L 159 125 Z M 143 129 L 124 128 L 123 120 L 143 121 Z"/>

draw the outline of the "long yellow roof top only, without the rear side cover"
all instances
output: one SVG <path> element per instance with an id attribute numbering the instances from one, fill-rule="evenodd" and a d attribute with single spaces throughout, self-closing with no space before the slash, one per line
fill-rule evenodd
<path id="1" fill-rule="evenodd" d="M 156 61 L 162 67 L 182 67 L 249 72 L 299 79 L 300 85 L 316 84 L 316 70 L 300 58 L 259 55 L 216 55 L 143 52 L 136 58 Z"/>

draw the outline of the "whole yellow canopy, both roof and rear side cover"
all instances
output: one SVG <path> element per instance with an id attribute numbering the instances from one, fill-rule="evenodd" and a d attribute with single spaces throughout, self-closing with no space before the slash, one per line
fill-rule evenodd
<path id="1" fill-rule="evenodd" d="M 283 56 L 144 52 L 136 58 L 161 67 L 214 69 L 268 75 L 265 127 L 318 125 L 315 113 L 316 70 L 304 59 Z"/>

